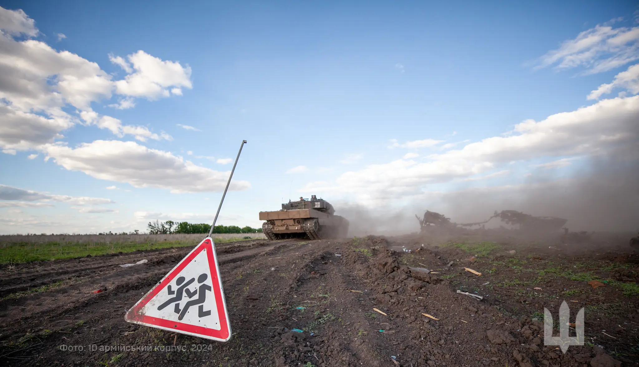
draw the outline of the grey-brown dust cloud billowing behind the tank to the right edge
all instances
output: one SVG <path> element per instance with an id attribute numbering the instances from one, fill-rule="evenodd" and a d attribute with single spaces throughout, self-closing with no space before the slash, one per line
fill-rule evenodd
<path id="1" fill-rule="evenodd" d="M 350 221 L 350 236 L 399 235 L 419 231 L 415 214 L 425 210 L 454 223 L 485 221 L 495 210 L 568 219 L 570 231 L 639 231 L 639 144 L 591 157 L 573 175 L 536 169 L 521 185 L 426 193 L 404 207 L 369 208 L 336 203 Z M 401 199 L 401 198 L 398 198 Z"/>

